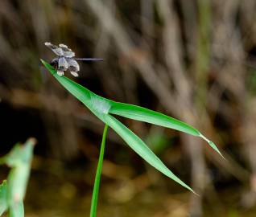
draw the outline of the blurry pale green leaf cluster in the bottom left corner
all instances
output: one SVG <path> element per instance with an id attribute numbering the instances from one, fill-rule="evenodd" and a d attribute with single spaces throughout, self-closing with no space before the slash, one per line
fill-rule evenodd
<path id="1" fill-rule="evenodd" d="M 23 199 L 31 170 L 31 160 L 35 139 L 29 139 L 24 145 L 17 144 L 9 154 L 0 158 L 0 162 L 10 166 L 7 181 L 0 188 L 0 215 L 9 209 L 11 217 L 23 217 Z"/>

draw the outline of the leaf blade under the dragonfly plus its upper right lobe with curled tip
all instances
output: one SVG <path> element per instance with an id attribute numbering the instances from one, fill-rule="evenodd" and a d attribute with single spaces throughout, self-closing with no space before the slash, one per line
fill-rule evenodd
<path id="1" fill-rule="evenodd" d="M 173 117 L 168 117 L 163 113 L 158 113 L 153 110 L 145 109 L 133 104 L 115 102 L 113 100 L 97 96 L 95 93 L 89 91 L 89 89 L 81 86 L 80 84 L 76 84 L 74 81 L 69 80 L 64 76 L 58 76 L 56 70 L 52 68 L 50 64 L 43 61 L 43 59 L 41 59 L 41 61 L 49 70 L 49 72 L 51 72 L 52 75 L 56 77 L 56 80 L 58 80 L 60 84 L 64 85 L 64 87 L 67 88 L 68 91 L 72 93 L 72 95 L 76 96 L 78 100 L 81 100 L 81 102 L 83 102 L 94 114 L 96 114 L 97 111 L 99 112 L 98 114 L 116 114 L 122 117 L 127 117 L 137 121 L 144 121 L 170 129 L 176 129 L 196 137 L 201 137 L 207 141 L 209 145 L 215 151 L 217 151 L 218 154 L 221 155 L 222 158 L 224 158 L 220 150 L 217 148 L 217 145 L 215 145 L 213 141 L 210 141 L 207 137 L 204 137 L 204 135 L 200 133 L 199 130 L 193 128 L 191 125 L 188 125 L 183 121 L 179 121 Z M 74 86 L 76 86 L 76 88 L 74 88 Z"/>

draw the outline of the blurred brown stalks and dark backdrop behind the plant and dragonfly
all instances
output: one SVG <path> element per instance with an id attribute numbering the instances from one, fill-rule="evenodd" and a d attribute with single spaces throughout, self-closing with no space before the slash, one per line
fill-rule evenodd
<path id="1" fill-rule="evenodd" d="M 79 84 L 195 126 L 227 159 L 185 133 L 122 119 L 200 197 L 109 130 L 98 216 L 255 216 L 255 10 L 255 0 L 1 0 L 0 154 L 38 141 L 26 215 L 89 215 L 104 127 L 43 68 L 40 58 L 55 57 L 49 41 L 105 59 L 81 63 Z"/>

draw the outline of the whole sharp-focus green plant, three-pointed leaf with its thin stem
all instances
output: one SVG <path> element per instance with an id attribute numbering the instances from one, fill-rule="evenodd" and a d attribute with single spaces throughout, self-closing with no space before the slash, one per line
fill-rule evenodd
<path id="1" fill-rule="evenodd" d="M 123 125 L 122 122 L 118 121 L 118 119 L 116 119 L 114 115 L 130 118 L 137 121 L 144 121 L 150 124 L 167 127 L 170 129 L 176 129 L 181 132 L 191 134 L 195 137 L 201 137 L 205 141 L 207 141 L 218 154 L 221 155 L 221 152 L 219 151 L 219 149 L 217 149 L 217 146 L 213 143 L 213 141 L 210 141 L 207 137 L 204 137 L 204 135 L 200 133 L 199 130 L 193 128 L 192 126 L 175 118 L 168 117 L 163 113 L 158 113 L 133 104 L 115 102 L 113 100 L 98 96 L 97 94 L 89 91 L 89 89 L 81 86 L 80 84 L 77 84 L 76 82 L 68 79 L 67 77 L 59 76 L 55 68 L 53 68 L 49 63 L 45 62 L 43 59 L 41 59 L 41 61 L 43 65 L 47 68 L 47 70 L 51 72 L 52 76 L 54 76 L 56 80 L 58 80 L 58 82 L 68 90 L 68 92 L 72 93 L 73 96 L 75 96 L 78 100 L 85 104 L 85 106 L 95 116 L 97 116 L 101 121 L 105 123 L 105 131 L 103 133 L 104 137 L 101 144 L 101 154 L 98 162 L 95 185 L 93 189 L 93 205 L 91 209 L 91 217 L 96 216 L 97 194 L 99 190 L 101 165 L 104 153 L 104 147 L 102 148 L 102 145 L 105 146 L 107 126 L 114 129 L 114 131 L 118 133 L 118 135 L 122 137 L 124 141 L 126 141 L 126 144 L 129 145 L 131 149 L 134 149 L 134 151 L 151 166 L 154 166 L 155 169 L 159 170 L 167 177 L 173 179 L 181 186 L 184 186 L 188 190 L 191 190 L 193 193 L 195 193 L 190 186 L 185 184 L 182 180 L 180 180 L 180 178 L 173 174 L 171 170 L 169 170 L 167 166 L 163 164 L 163 162 L 135 133 L 133 133 L 130 129 Z"/>

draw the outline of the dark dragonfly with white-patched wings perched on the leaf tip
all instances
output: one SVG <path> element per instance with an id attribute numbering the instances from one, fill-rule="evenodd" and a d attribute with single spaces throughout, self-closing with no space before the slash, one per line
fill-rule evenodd
<path id="1" fill-rule="evenodd" d="M 64 76 L 64 72 L 69 70 L 72 76 L 78 77 L 80 66 L 77 61 L 102 61 L 101 58 L 75 58 L 75 52 L 73 52 L 67 45 L 60 43 L 59 47 L 46 42 L 44 43 L 49 47 L 57 57 L 52 59 L 51 65 L 56 68 L 59 76 Z"/>

